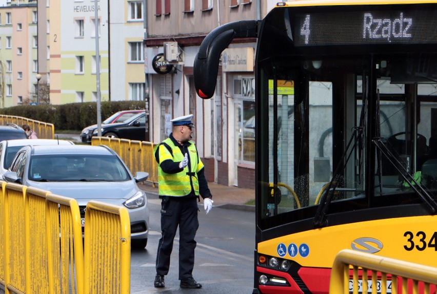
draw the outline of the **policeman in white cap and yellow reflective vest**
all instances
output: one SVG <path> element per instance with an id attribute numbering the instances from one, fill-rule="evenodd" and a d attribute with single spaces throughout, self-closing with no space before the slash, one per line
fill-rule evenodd
<path id="1" fill-rule="evenodd" d="M 172 133 L 155 147 L 158 163 L 158 190 L 161 198 L 161 239 L 156 254 L 154 286 L 165 287 L 164 276 L 170 268 L 173 240 L 179 227 L 179 280 L 181 288 L 202 288 L 193 279 L 196 247 L 197 201 L 204 199 L 205 211 L 212 208 L 212 195 L 205 178 L 204 165 L 194 142 L 190 141 L 193 115 L 170 120 Z"/>

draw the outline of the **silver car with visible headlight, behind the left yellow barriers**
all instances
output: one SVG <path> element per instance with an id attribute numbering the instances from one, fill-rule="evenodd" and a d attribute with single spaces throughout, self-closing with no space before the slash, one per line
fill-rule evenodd
<path id="1" fill-rule="evenodd" d="M 125 206 L 131 222 L 132 247 L 144 248 L 149 207 L 146 194 L 136 183 L 148 176 L 137 172 L 133 177 L 123 160 L 107 146 L 47 145 L 20 149 L 4 178 L 76 199 L 83 226 L 90 200 Z"/>

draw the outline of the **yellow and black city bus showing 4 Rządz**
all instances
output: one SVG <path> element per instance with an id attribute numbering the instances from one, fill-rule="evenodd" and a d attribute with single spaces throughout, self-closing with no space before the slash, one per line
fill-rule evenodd
<path id="1" fill-rule="evenodd" d="M 257 38 L 253 293 L 328 293 L 345 248 L 435 266 L 437 1 L 295 0 L 218 27 L 200 97 L 240 37 Z"/>

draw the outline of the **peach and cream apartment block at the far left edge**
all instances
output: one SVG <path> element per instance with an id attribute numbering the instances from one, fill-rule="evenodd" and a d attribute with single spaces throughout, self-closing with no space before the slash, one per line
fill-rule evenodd
<path id="1" fill-rule="evenodd" d="M 0 107 L 36 102 L 36 1 L 0 7 Z"/>

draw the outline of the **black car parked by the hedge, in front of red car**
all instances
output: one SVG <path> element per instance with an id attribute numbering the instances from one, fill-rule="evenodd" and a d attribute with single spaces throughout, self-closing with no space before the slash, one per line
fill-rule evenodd
<path id="1" fill-rule="evenodd" d="M 146 140 L 146 118 L 147 115 L 143 112 L 128 118 L 124 122 L 102 123 L 102 136 L 144 141 Z M 82 142 L 90 143 L 93 136 L 97 136 L 97 125 L 82 131 Z"/>

